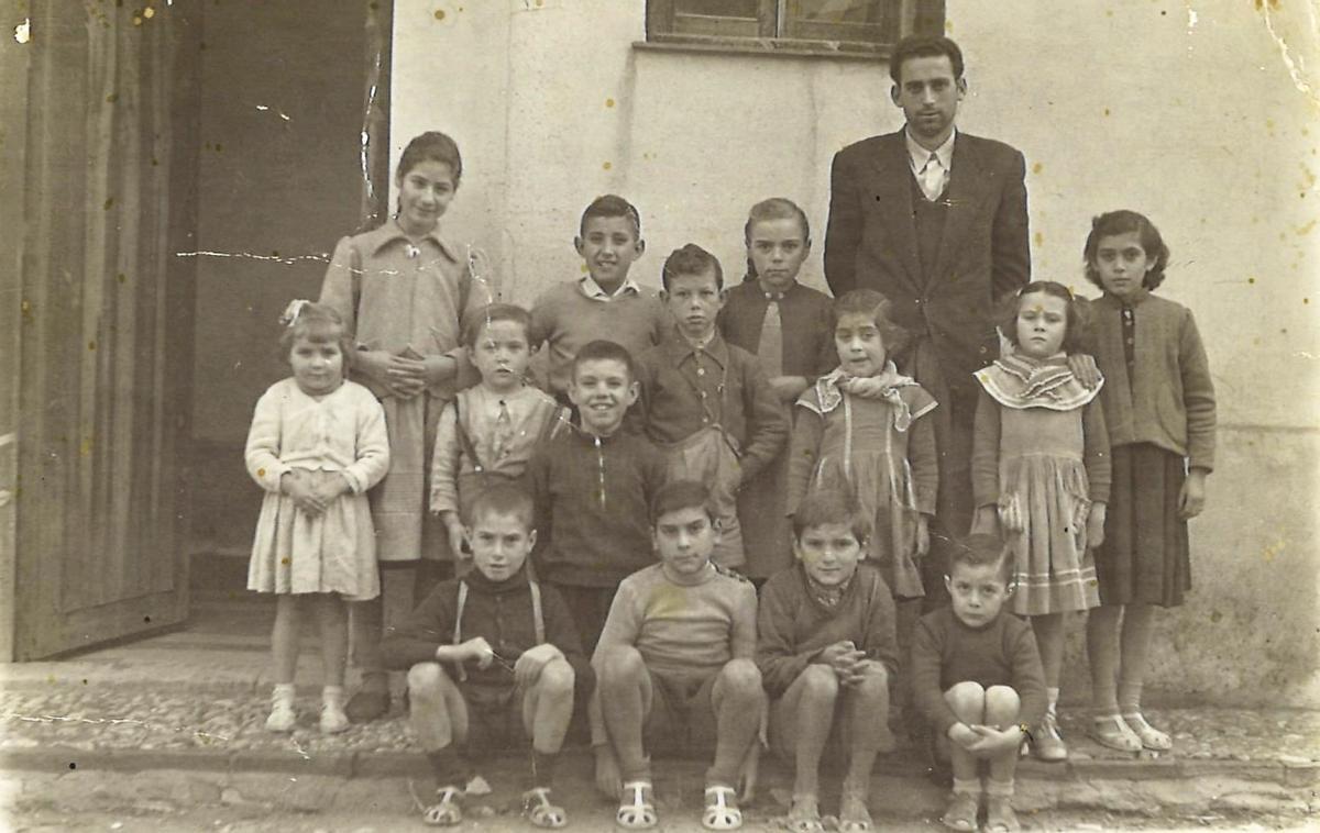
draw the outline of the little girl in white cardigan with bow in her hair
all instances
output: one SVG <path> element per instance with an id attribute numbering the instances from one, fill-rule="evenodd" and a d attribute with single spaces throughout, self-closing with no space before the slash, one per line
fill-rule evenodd
<path id="1" fill-rule="evenodd" d="M 380 402 L 345 378 L 351 340 L 330 307 L 294 301 L 280 345 L 293 376 L 256 403 L 247 469 L 265 489 L 248 565 L 248 589 L 277 593 L 271 634 L 275 693 L 265 728 L 292 732 L 293 674 L 302 600 L 315 605 L 325 663 L 321 730 L 343 732 L 348 642 L 346 601 L 380 593 L 367 489 L 389 468 Z"/>

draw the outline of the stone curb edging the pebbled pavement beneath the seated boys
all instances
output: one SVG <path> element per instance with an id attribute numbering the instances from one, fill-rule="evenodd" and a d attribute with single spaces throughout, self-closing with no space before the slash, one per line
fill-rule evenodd
<path id="1" fill-rule="evenodd" d="M 569 755 L 586 757 L 585 750 Z M 41 772 L 74 770 L 108 770 L 139 772 L 143 770 L 194 770 L 222 772 L 285 772 L 329 775 L 335 778 L 400 778 L 425 771 L 426 758 L 418 751 L 318 751 L 298 754 L 284 750 L 218 749 L 75 749 L 48 746 L 42 749 L 0 750 L 0 768 Z M 875 775 L 925 780 L 911 761 L 876 762 Z M 1092 780 L 1193 780 L 1199 778 L 1232 778 L 1245 782 L 1267 782 L 1302 788 L 1320 783 L 1320 762 L 1279 761 L 1115 761 L 1090 759 L 1047 764 L 1023 761 L 1019 780 L 1055 782 L 1059 786 Z"/>

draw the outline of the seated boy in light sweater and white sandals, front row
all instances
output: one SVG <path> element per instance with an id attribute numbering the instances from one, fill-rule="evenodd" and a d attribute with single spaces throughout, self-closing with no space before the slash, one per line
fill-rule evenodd
<path id="1" fill-rule="evenodd" d="M 623 828 L 656 824 L 649 750 L 690 751 L 714 741 L 702 826 L 742 826 L 755 787 L 756 733 L 766 705 L 756 650 L 756 590 L 710 563 L 719 538 L 710 493 L 667 484 L 652 503 L 660 556 L 623 580 L 591 656 L 597 787 L 619 800 Z"/>

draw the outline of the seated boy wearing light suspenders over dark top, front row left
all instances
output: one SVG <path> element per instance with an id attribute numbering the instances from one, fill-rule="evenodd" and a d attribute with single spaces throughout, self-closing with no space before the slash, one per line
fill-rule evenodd
<path id="1" fill-rule="evenodd" d="M 425 821 L 462 821 L 458 800 L 471 778 L 462 746 L 507 747 L 521 734 L 532 739 L 524 813 L 537 826 L 560 828 L 564 809 L 550 801 L 554 764 L 574 691 L 589 691 L 593 674 L 564 600 L 527 577 L 536 542 L 531 497 L 513 485 L 491 486 L 467 521 L 477 569 L 440 584 L 380 643 L 387 668 L 408 670 L 409 718 L 436 772 L 437 801 Z"/>

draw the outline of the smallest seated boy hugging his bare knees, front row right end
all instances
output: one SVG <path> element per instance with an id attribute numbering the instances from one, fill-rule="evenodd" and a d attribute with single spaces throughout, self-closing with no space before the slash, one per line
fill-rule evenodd
<path id="1" fill-rule="evenodd" d="M 952 605 L 917 622 L 912 693 L 953 763 L 953 796 L 941 821 L 975 830 L 981 795 L 986 829 L 1018 830 L 1012 776 L 1018 750 L 1045 713 L 1045 681 L 1031 625 L 1003 610 L 1011 561 L 993 535 L 954 546 L 945 576 Z M 981 762 L 987 778 L 981 784 Z"/>

